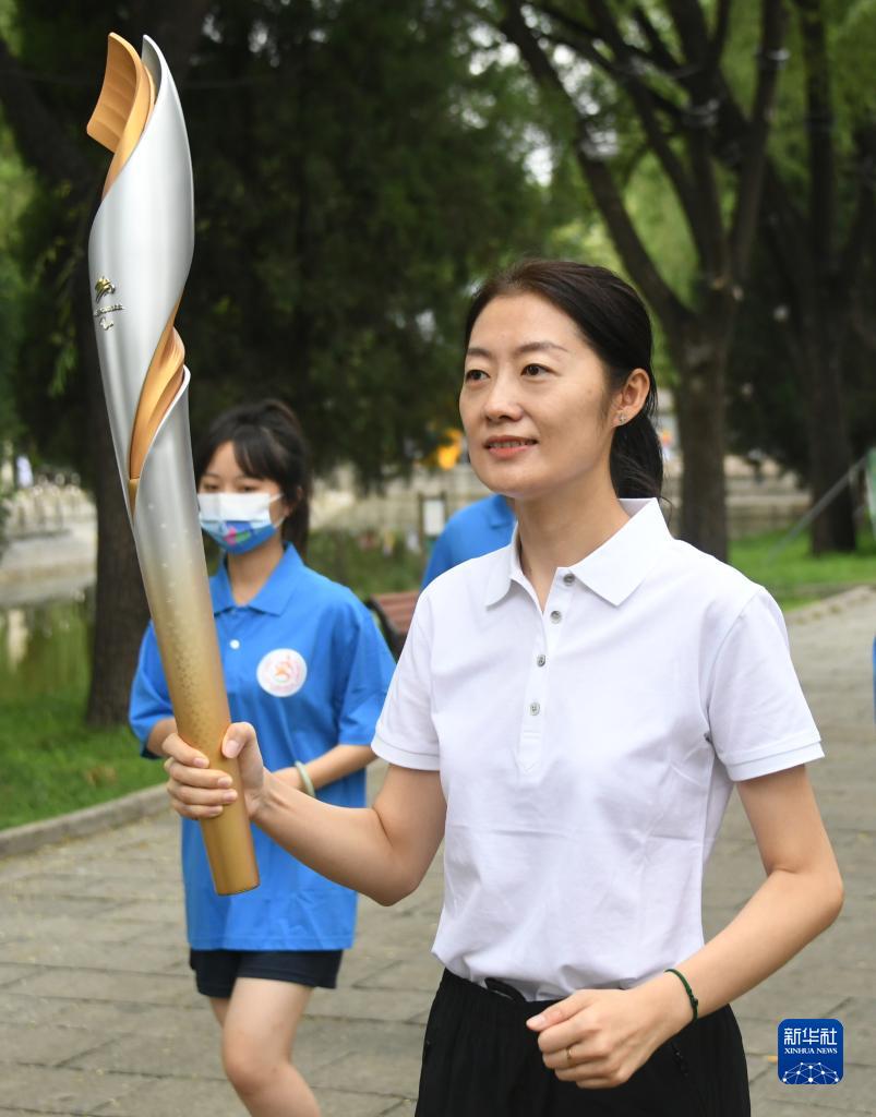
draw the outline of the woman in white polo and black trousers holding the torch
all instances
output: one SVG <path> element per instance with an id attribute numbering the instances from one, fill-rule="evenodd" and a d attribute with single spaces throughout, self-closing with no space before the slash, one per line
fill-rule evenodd
<path id="1" fill-rule="evenodd" d="M 741 1117 L 729 1002 L 842 896 L 781 614 L 666 528 L 650 325 L 622 280 L 524 261 L 475 296 L 465 345 L 472 464 L 518 526 L 420 598 L 373 806 L 308 799 L 266 770 L 250 725 L 225 755 L 260 830 L 382 904 L 444 838 L 418 1117 Z M 218 815 L 221 773 L 177 736 L 164 751 L 177 810 Z M 765 879 L 704 944 L 703 870 L 734 785 Z"/>

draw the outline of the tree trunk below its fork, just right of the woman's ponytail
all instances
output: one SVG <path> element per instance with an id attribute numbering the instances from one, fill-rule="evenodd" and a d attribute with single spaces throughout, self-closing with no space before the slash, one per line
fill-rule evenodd
<path id="1" fill-rule="evenodd" d="M 682 538 L 701 551 L 727 557 L 724 490 L 724 376 L 729 345 L 697 336 L 691 327 L 673 345 L 680 384 L 676 392 L 678 435 L 684 455 Z"/>

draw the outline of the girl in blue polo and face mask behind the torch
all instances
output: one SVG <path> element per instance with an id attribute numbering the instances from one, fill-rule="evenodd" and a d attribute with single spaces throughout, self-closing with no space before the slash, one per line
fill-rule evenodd
<path id="1" fill-rule="evenodd" d="M 210 580 L 234 720 L 258 726 L 265 763 L 308 794 L 365 804 L 364 768 L 394 667 L 371 614 L 302 560 L 311 493 L 294 413 L 266 400 L 220 416 L 196 452 L 201 526 L 226 553 Z M 150 624 L 131 694 L 144 756 L 175 732 Z M 190 962 L 222 1028 L 222 1061 L 254 1117 L 318 1117 L 294 1067 L 314 986 L 334 987 L 352 945 L 356 894 L 253 832 L 261 884 L 213 890 L 200 827 L 183 820 Z"/>

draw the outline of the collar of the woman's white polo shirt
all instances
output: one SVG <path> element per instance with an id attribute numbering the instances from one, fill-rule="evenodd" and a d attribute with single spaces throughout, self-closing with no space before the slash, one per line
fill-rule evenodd
<path id="1" fill-rule="evenodd" d="M 622 499 L 620 504 L 630 517 L 627 523 L 587 558 L 569 567 L 579 582 L 612 605 L 622 604 L 641 584 L 664 544 L 672 540 L 659 500 Z M 508 546 L 496 553 L 487 579 L 486 604 L 501 601 L 512 582 L 529 585 L 520 564 L 516 527 Z"/>

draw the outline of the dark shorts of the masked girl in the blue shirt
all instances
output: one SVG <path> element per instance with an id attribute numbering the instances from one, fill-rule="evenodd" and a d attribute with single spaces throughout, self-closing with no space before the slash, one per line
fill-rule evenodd
<path id="1" fill-rule="evenodd" d="M 227 999 L 238 977 L 334 989 L 343 951 L 189 951 L 198 992 Z"/>

